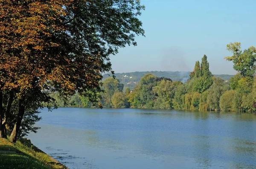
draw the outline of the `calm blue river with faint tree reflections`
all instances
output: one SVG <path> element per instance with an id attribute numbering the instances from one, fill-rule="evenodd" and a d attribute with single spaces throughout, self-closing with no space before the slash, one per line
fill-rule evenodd
<path id="1" fill-rule="evenodd" d="M 70 169 L 256 168 L 256 115 L 177 110 L 42 110 L 35 146 Z"/>

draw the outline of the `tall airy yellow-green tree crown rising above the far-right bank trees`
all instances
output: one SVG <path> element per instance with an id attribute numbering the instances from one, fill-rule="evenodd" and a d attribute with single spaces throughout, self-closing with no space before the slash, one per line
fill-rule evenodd
<path id="1" fill-rule="evenodd" d="M 227 56 L 224 59 L 234 63 L 233 68 L 244 77 L 253 77 L 255 73 L 256 48 L 251 46 L 241 51 L 241 43 L 234 42 L 227 45 L 227 50 L 233 53 L 233 56 Z"/>

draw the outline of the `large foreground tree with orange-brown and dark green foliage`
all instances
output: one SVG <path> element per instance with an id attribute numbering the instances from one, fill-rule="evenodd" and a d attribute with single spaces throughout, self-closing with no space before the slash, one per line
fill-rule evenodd
<path id="1" fill-rule="evenodd" d="M 140 0 L 0 0 L 0 131 L 3 91 L 18 99 L 14 142 L 32 91 L 96 102 L 109 56 L 144 36 L 143 9 Z"/>

